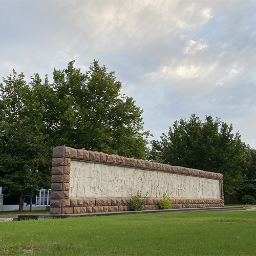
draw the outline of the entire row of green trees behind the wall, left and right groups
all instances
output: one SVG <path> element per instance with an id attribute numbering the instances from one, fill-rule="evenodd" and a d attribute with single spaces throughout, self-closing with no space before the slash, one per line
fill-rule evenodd
<path id="1" fill-rule="evenodd" d="M 225 197 L 244 187 L 244 181 L 254 186 L 255 152 L 232 133 L 232 125 L 211 116 L 202 122 L 194 114 L 177 120 L 149 150 L 142 110 L 120 89 L 114 72 L 96 60 L 85 74 L 74 61 L 65 70 L 54 69 L 52 82 L 38 74 L 26 82 L 14 70 L 4 78 L 0 186 L 17 192 L 19 210 L 27 191 L 32 195 L 50 187 L 52 148 L 60 145 L 222 173 Z"/>

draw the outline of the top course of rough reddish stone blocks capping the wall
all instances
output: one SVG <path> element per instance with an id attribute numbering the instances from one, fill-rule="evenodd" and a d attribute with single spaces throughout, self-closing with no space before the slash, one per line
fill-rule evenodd
<path id="1" fill-rule="evenodd" d="M 162 172 L 177 173 L 190 176 L 198 176 L 211 179 L 223 179 L 220 173 L 205 172 L 204 170 L 186 168 L 181 166 L 172 166 L 156 162 L 145 161 L 141 159 L 127 158 L 117 155 L 109 155 L 102 152 L 76 150 L 67 146 L 57 146 L 53 148 L 53 158 L 71 158 L 85 161 L 95 161 L 101 163 L 110 163 L 114 165 L 122 165 L 127 167 L 135 167 L 141 169 L 160 170 Z"/>

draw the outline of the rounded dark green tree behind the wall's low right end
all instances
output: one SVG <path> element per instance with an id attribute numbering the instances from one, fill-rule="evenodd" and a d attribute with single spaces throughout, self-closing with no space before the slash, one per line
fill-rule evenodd
<path id="1" fill-rule="evenodd" d="M 222 173 L 224 196 L 228 197 L 240 188 L 250 161 L 248 146 L 240 137 L 220 118 L 206 116 L 201 121 L 193 114 L 175 121 L 160 141 L 152 141 L 150 159 Z"/>

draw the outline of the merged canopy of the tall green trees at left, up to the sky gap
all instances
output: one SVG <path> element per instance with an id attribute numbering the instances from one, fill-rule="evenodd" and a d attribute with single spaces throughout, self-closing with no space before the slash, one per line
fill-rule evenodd
<path id="1" fill-rule="evenodd" d="M 54 69 L 51 83 L 37 73 L 28 83 L 13 70 L 0 83 L 0 186 L 17 192 L 20 205 L 27 191 L 48 188 L 54 146 L 146 159 L 142 110 L 120 89 L 96 60 L 85 74 L 74 61 Z"/>

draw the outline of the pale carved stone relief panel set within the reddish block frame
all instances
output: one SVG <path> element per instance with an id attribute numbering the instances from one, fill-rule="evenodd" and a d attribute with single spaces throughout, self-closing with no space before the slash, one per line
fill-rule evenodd
<path id="1" fill-rule="evenodd" d="M 220 181 L 147 169 L 71 161 L 70 197 L 131 197 L 143 188 L 150 197 L 220 199 Z"/>

